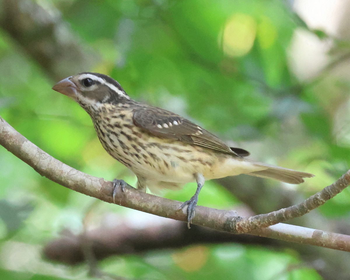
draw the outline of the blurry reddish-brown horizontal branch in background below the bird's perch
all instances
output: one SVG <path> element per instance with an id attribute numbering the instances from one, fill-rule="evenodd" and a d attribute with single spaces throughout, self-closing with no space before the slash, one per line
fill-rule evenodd
<path id="1" fill-rule="evenodd" d="M 95 228 L 86 232 L 85 239 L 91 243 L 94 255 L 101 260 L 111 255 L 142 254 L 150 250 L 181 248 L 195 244 L 238 242 L 279 247 L 273 239 L 254 237 L 248 234 L 219 232 L 207 227 L 191 225 L 188 231 L 183 222 L 170 220 L 166 223 L 151 223 L 143 228 L 134 228 L 123 217 L 116 227 Z M 80 234 L 62 232 L 62 237 L 50 241 L 44 248 L 46 258 L 65 264 L 84 261 Z"/>

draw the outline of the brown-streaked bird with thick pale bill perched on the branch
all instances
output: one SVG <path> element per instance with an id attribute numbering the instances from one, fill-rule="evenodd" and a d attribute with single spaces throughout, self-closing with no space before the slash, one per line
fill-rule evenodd
<path id="1" fill-rule="evenodd" d="M 165 109 L 134 101 L 110 76 L 84 72 L 52 87 L 71 97 L 90 115 L 99 141 L 114 159 L 137 176 L 136 188 L 146 192 L 179 189 L 196 182 L 187 206 L 187 225 L 195 216 L 198 195 L 206 180 L 247 174 L 300 184 L 314 177 L 248 159 L 250 153 L 229 147 L 211 132 Z M 113 180 L 113 200 L 124 180 Z"/>

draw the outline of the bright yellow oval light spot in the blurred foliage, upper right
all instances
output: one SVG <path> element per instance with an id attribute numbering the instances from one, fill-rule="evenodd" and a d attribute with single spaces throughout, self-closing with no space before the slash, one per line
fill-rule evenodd
<path id="1" fill-rule="evenodd" d="M 229 56 L 243 56 L 253 47 L 257 23 L 250 15 L 237 13 L 227 22 L 222 33 L 223 52 Z"/>

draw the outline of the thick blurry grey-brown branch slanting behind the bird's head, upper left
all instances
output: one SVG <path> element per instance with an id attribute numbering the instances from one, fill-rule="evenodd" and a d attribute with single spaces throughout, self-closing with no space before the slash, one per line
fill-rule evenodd
<path id="1" fill-rule="evenodd" d="M 2 0 L 1 4 L 1 28 L 54 80 L 90 69 L 99 61 L 98 53 L 84 47 L 58 11 L 35 1 Z"/>

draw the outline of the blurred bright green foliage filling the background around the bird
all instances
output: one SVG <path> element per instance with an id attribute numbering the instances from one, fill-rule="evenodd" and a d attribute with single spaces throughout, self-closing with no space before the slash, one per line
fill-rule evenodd
<path id="1" fill-rule="evenodd" d="M 349 83 L 327 73 L 313 81 L 297 80 L 288 48 L 296 30 L 306 25 L 284 1 L 37 3 L 56 16 L 60 11 L 77 41 L 100 55 L 99 63 L 86 70 L 116 78 L 132 98 L 240 142 L 253 158 L 314 173 L 298 189 L 305 196 L 348 169 L 350 132 L 338 130 L 334 116 L 341 104 L 348 104 Z M 326 36 L 321 30 L 316 34 Z M 59 36 L 65 40 L 71 34 Z M 55 82 L 0 29 L 0 115 L 62 162 L 93 176 L 134 184 L 133 174 L 100 146 L 89 116 L 51 90 Z M 91 226 L 110 212 L 137 215 L 102 202 L 91 214 L 94 198 L 42 178 L 2 147 L 0 166 L 2 279 L 90 279 L 85 265 L 69 268 L 42 260 L 43 244 L 64 228 L 81 232 L 87 212 L 96 216 Z M 187 200 L 194 189 L 189 184 L 165 196 Z M 317 211 L 333 219 L 348 218 L 349 198 L 345 190 Z M 239 203 L 214 182 L 206 182 L 199 200 L 221 209 Z M 100 266 L 131 279 L 321 279 L 293 250 L 235 244 L 112 257 Z"/>

